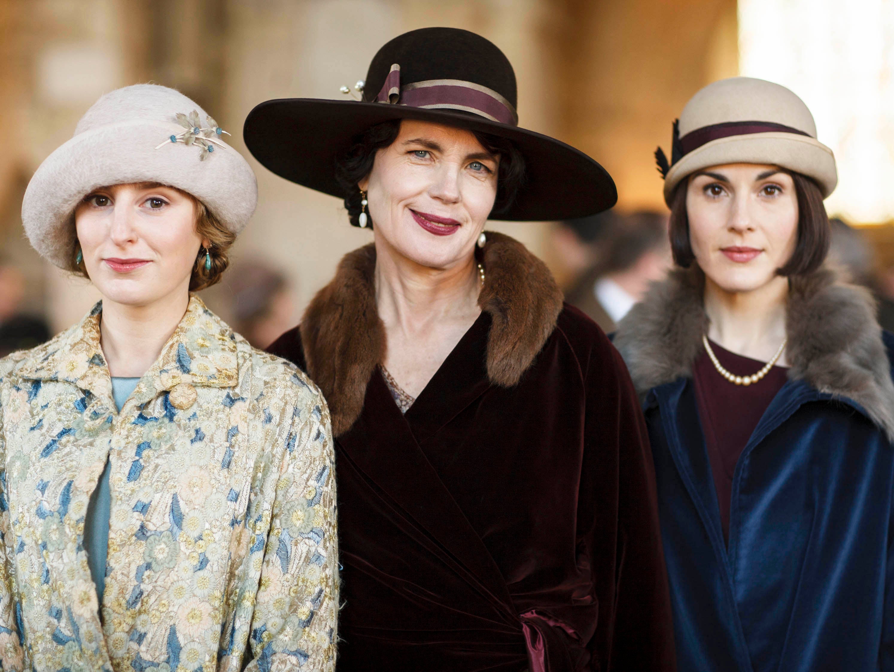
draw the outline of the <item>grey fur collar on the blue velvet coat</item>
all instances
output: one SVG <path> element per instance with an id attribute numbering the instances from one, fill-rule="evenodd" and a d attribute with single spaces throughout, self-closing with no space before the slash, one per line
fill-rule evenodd
<path id="1" fill-rule="evenodd" d="M 640 395 L 692 375 L 708 327 L 703 283 L 695 267 L 674 270 L 621 320 L 614 344 Z M 894 441 L 894 383 L 870 293 L 831 268 L 792 278 L 786 328 L 789 379 L 856 401 Z"/>

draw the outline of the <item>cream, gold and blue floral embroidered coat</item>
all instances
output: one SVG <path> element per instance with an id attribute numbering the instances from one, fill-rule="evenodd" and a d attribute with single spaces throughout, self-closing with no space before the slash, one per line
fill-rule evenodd
<path id="1" fill-rule="evenodd" d="M 333 669 L 323 396 L 192 297 L 118 413 L 101 310 L 0 361 L 0 668 Z M 83 530 L 107 457 L 100 623 Z"/>

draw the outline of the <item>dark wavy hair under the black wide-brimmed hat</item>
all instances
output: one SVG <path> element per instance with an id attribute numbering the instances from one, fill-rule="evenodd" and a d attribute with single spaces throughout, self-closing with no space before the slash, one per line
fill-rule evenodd
<path id="1" fill-rule="evenodd" d="M 373 169 L 375 153 L 379 149 L 390 147 L 401 132 L 401 120 L 392 119 L 371 126 L 366 132 L 358 135 L 351 146 L 335 159 L 335 178 L 344 190 L 344 207 L 348 210 L 350 223 L 359 226 L 358 218 L 363 211 L 360 205 L 358 183 Z M 510 208 L 519 189 L 525 182 L 525 158 L 511 140 L 490 133 L 470 131 L 483 148 L 494 156 L 500 157 L 497 171 L 497 196 L 493 201 L 492 215 L 499 215 Z M 367 211 L 367 217 L 369 213 Z M 372 217 L 367 226 L 372 228 Z"/>

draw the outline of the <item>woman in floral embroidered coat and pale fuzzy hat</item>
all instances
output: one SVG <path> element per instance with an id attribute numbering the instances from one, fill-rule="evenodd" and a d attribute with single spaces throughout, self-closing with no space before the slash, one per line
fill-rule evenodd
<path id="1" fill-rule="evenodd" d="M 30 242 L 103 300 L 0 361 L 0 668 L 334 668 L 325 401 L 191 294 L 257 200 L 223 137 L 118 89 L 28 186 Z"/>

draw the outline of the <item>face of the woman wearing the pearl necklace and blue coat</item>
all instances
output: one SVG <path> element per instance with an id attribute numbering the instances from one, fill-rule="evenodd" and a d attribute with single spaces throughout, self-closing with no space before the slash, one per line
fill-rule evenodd
<path id="1" fill-rule="evenodd" d="M 689 178 L 686 209 L 698 266 L 726 292 L 750 292 L 780 278 L 776 269 L 795 251 L 795 183 L 776 166 L 699 171 Z"/>

